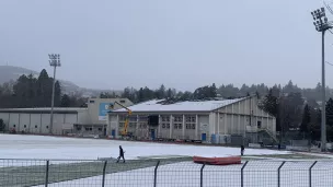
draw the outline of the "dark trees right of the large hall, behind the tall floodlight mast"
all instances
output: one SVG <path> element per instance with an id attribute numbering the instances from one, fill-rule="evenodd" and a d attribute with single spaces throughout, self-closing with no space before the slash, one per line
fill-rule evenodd
<path id="1" fill-rule="evenodd" d="M 309 102 L 300 92 L 282 93 L 273 87 L 263 97 L 260 107 L 276 117 L 276 130 L 290 139 L 320 140 L 321 107 Z M 328 140 L 333 141 L 333 100 L 325 104 Z M 294 133 L 290 133 L 294 132 Z M 282 139 L 280 139 L 282 141 Z"/>

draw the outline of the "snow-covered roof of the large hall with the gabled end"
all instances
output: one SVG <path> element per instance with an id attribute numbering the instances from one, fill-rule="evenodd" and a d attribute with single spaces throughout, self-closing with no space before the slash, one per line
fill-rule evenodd
<path id="1" fill-rule="evenodd" d="M 153 100 L 128 107 L 131 112 L 210 112 L 217 108 L 237 103 L 244 98 L 223 100 L 223 101 L 203 101 L 203 102 L 179 102 L 162 105 L 163 100 Z M 115 113 L 123 113 L 126 109 L 117 109 Z"/>

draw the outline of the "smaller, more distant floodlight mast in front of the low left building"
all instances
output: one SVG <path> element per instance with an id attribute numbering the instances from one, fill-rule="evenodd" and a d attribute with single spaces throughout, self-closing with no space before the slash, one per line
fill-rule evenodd
<path id="1" fill-rule="evenodd" d="M 53 82 L 53 94 L 51 94 L 51 104 L 50 104 L 50 121 L 49 121 L 49 133 L 53 135 L 54 126 L 54 107 L 55 107 L 55 85 L 56 85 L 56 69 L 60 67 L 60 55 L 59 54 L 49 54 L 49 66 L 54 67 L 54 82 Z"/>

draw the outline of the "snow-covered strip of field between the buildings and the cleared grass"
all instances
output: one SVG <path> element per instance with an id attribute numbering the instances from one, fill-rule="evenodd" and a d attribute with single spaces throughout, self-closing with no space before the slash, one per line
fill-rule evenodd
<path id="1" fill-rule="evenodd" d="M 126 159 L 152 155 L 228 156 L 240 154 L 240 149 L 238 148 L 0 135 L 0 159 L 96 160 L 97 157 L 116 157 L 118 155 L 118 145 L 123 145 Z M 248 155 L 286 153 L 288 152 L 245 150 Z"/>

